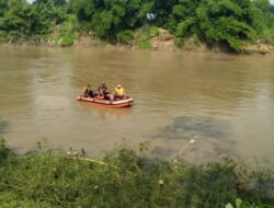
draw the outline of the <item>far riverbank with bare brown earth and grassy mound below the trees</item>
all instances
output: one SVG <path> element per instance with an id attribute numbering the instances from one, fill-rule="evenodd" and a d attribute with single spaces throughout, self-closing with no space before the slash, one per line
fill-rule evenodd
<path id="1" fill-rule="evenodd" d="M 165 50 L 165 51 L 191 51 L 191 53 L 225 53 L 235 55 L 252 55 L 252 54 L 274 54 L 274 43 L 250 43 L 243 42 L 240 51 L 231 50 L 224 44 L 206 44 L 201 42 L 196 36 L 192 36 L 179 43 L 174 35 L 167 30 L 152 27 L 149 30 L 140 30 L 134 33 L 130 41 L 122 41 L 117 43 L 109 43 L 92 34 L 73 35 L 73 38 L 67 41 L 60 35 L 55 34 L 44 39 L 18 39 L 2 42 L 5 46 L 43 46 L 43 47 L 72 47 L 72 48 L 94 48 L 94 47 L 113 47 L 117 49 L 147 49 L 147 50 Z"/>

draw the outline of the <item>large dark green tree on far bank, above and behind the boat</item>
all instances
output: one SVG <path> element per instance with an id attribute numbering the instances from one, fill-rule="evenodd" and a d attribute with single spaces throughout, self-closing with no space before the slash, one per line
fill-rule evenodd
<path id="1" fill-rule="evenodd" d="M 72 0 L 71 7 L 85 30 L 111 42 L 116 41 L 121 31 L 141 25 L 139 0 Z"/>

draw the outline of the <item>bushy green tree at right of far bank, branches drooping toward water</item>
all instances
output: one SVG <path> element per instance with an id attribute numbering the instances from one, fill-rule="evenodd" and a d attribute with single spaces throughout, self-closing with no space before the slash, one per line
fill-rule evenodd
<path id="1" fill-rule="evenodd" d="M 207 43 L 222 42 L 241 50 L 243 39 L 254 39 L 248 0 L 205 0 L 196 10 L 199 35 Z"/>

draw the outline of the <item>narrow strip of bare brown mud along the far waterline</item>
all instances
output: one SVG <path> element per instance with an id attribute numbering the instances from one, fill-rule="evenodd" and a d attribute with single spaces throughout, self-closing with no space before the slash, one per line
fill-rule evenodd
<path id="1" fill-rule="evenodd" d="M 160 34 L 158 37 L 150 39 L 151 47 L 145 50 L 159 50 L 159 51 L 190 51 L 190 53 L 220 53 L 220 54 L 232 54 L 232 55 L 267 55 L 274 54 L 274 44 L 265 43 L 243 43 L 243 49 L 239 53 L 231 51 L 224 44 L 205 44 L 205 43 L 195 43 L 192 38 L 185 41 L 183 46 L 179 47 L 175 44 L 175 38 L 170 34 Z M 56 41 L 18 41 L 13 43 L 0 43 L 0 46 L 38 46 L 38 47 L 53 47 L 53 48 L 116 48 L 116 49 L 127 49 L 127 50 L 139 50 L 144 49 L 137 45 L 127 45 L 122 43 L 111 44 L 103 42 L 100 38 L 93 36 L 79 36 L 73 45 L 71 46 L 59 46 Z"/>

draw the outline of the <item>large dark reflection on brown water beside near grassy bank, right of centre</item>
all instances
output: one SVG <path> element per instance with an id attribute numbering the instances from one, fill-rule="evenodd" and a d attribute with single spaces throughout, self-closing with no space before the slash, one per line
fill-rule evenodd
<path id="1" fill-rule="evenodd" d="M 231 154 L 236 141 L 229 136 L 230 126 L 226 120 L 209 116 L 181 116 L 153 137 L 152 154 L 171 159 L 176 155 L 174 152 L 180 152 L 179 158 L 199 163 L 213 159 L 216 152 Z M 195 142 L 181 152 L 191 140 Z"/>

